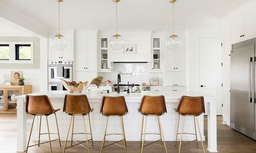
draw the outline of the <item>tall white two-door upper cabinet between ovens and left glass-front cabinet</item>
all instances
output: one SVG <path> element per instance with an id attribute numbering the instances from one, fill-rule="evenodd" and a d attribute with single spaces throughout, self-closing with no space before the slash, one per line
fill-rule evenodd
<path id="1" fill-rule="evenodd" d="M 96 71 L 96 36 L 76 35 L 77 71 Z"/>

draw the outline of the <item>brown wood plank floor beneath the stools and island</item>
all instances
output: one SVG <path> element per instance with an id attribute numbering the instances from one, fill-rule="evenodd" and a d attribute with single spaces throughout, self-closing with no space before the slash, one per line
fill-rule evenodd
<path id="1" fill-rule="evenodd" d="M 29 134 L 30 126 L 32 117 L 28 115 L 28 122 L 27 122 L 27 134 Z M 0 114 L 0 153 L 15 153 L 16 151 L 16 114 Z M 204 127 L 205 127 L 205 136 L 207 140 L 207 117 L 204 117 Z M 36 144 L 36 141 L 32 142 Z M 32 144 L 31 143 L 31 144 Z M 208 152 L 207 148 L 207 141 L 205 143 L 205 152 Z M 90 144 L 90 152 L 91 153 L 99 153 L 101 149 L 102 142 L 95 141 L 94 147 L 91 147 Z M 107 142 L 106 142 L 107 144 Z M 122 144 L 120 142 L 120 144 Z M 147 144 L 147 143 L 146 143 Z M 178 152 L 179 146 L 174 146 L 173 141 L 166 142 L 167 144 L 167 151 L 171 152 Z M 200 142 L 199 142 L 200 144 Z M 64 141 L 61 141 L 61 145 L 64 146 Z M 70 145 L 70 142 L 68 142 Z M 217 117 L 217 150 L 220 153 L 252 153 L 256 152 L 256 141 L 233 130 L 230 129 L 229 126 L 222 124 L 222 117 Z M 63 147 L 59 147 L 59 142 L 55 141 L 52 142 L 52 151 L 53 153 L 62 153 Z M 50 152 L 49 147 L 45 144 L 42 144 L 40 147 L 30 147 L 28 149 L 28 153 L 46 153 Z M 66 150 L 66 153 L 84 153 L 87 152 L 82 146 L 75 146 L 71 147 Z M 117 145 L 112 145 L 103 149 L 103 153 L 122 153 L 124 149 Z M 140 153 L 141 147 L 139 147 L 139 142 L 127 142 L 127 153 Z M 144 148 L 144 153 L 164 153 L 164 148 L 156 146 L 156 145 L 149 145 Z M 186 145 L 182 147 L 181 153 L 202 153 L 201 148 L 197 148 L 193 145 Z"/>

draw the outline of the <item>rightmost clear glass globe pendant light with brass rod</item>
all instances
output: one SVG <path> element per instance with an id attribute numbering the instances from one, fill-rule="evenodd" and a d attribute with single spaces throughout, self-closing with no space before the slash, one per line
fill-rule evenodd
<path id="1" fill-rule="evenodd" d="M 166 46 L 170 50 L 177 50 L 181 46 L 181 40 L 174 34 L 174 3 L 177 2 L 177 0 L 171 0 L 169 2 L 172 3 L 173 35 L 166 39 Z"/>

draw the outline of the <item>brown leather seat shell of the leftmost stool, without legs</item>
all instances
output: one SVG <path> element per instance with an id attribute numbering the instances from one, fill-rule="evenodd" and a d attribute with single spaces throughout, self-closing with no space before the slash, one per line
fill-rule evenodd
<path id="1" fill-rule="evenodd" d="M 26 95 L 26 112 L 31 115 L 50 115 L 54 112 L 54 109 L 48 96 Z"/>

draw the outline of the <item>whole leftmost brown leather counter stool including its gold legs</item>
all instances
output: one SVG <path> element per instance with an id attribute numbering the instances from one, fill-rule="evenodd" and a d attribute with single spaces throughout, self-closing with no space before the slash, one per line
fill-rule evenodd
<path id="1" fill-rule="evenodd" d="M 46 95 L 41 95 L 41 96 L 26 95 L 26 112 L 33 115 L 33 121 L 32 121 L 31 130 L 30 130 L 30 134 L 29 134 L 29 141 L 30 141 L 30 137 L 31 137 L 35 117 L 40 116 L 38 144 L 34 144 L 32 146 L 38 145 L 38 147 L 39 147 L 40 144 L 46 144 L 46 143 L 49 142 L 50 146 L 48 144 L 46 144 L 46 145 L 50 147 L 50 150 L 51 150 L 51 153 L 52 153 L 51 142 L 59 140 L 59 146 L 61 147 L 60 138 L 55 139 L 55 140 L 51 140 L 51 138 L 50 138 L 50 134 L 57 134 L 58 137 L 59 137 L 59 127 L 58 127 L 57 117 L 56 117 L 56 114 L 55 114 L 59 110 L 60 109 L 53 109 L 53 107 L 51 105 L 51 102 L 50 102 L 48 96 L 46 96 Z M 47 117 L 51 114 L 55 115 L 55 120 L 56 120 L 56 126 L 57 126 L 58 133 L 50 133 L 49 132 L 49 125 L 48 125 Z M 40 133 L 41 132 L 42 116 L 46 117 L 46 124 L 47 124 L 48 133 Z M 47 142 L 42 141 L 40 139 L 40 135 L 42 135 L 42 134 L 48 134 L 49 141 L 47 141 Z M 29 146 L 29 141 L 28 141 L 26 153 L 28 152 L 28 147 L 32 147 L 32 146 Z M 40 143 L 40 141 L 42 141 L 42 143 Z"/>

